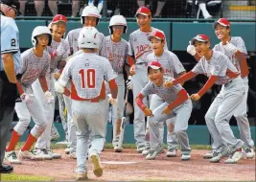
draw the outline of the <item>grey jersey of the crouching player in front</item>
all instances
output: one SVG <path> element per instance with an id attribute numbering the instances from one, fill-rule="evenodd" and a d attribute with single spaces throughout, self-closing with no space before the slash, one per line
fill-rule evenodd
<path id="1" fill-rule="evenodd" d="M 171 77 L 163 77 L 163 83 L 166 80 L 173 81 L 175 79 Z M 146 86 L 142 89 L 141 94 L 143 96 L 149 96 L 151 94 L 156 94 L 159 96 L 164 102 L 174 102 L 177 99 L 177 93 L 183 89 L 183 87 L 180 84 L 176 84 L 170 88 L 165 88 L 163 85 L 156 86 L 151 81 L 149 81 Z"/>

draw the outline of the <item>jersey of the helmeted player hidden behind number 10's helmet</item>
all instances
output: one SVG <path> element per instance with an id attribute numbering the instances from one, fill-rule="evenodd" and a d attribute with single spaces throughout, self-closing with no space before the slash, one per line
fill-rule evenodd
<path id="1" fill-rule="evenodd" d="M 72 55 L 80 50 L 78 39 L 79 39 L 79 36 L 80 36 L 81 29 L 82 28 L 72 30 L 66 36 L 66 40 L 67 40 L 67 42 L 69 44 L 69 47 L 70 47 L 70 53 Z M 102 34 L 102 33 L 99 33 L 99 35 L 100 35 L 101 42 L 103 42 L 105 35 Z M 102 49 L 102 43 L 100 43 L 99 51 L 101 49 Z"/>

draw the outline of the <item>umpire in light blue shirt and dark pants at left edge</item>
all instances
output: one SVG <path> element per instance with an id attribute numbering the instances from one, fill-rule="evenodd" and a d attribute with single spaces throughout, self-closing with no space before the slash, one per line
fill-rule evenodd
<path id="1" fill-rule="evenodd" d="M 18 0 L 1 0 L 0 60 L 0 173 L 10 173 L 12 166 L 3 164 L 8 134 L 17 98 L 16 75 L 19 70 L 19 32 L 13 20 L 19 14 Z"/>

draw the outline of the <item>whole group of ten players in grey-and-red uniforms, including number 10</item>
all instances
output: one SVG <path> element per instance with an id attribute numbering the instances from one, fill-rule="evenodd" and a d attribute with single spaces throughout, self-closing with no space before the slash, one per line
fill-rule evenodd
<path id="1" fill-rule="evenodd" d="M 168 51 L 165 34 L 151 27 L 149 9 L 142 7 L 136 12 L 140 28 L 129 35 L 128 42 L 122 38 L 128 29 L 123 16 L 111 18 L 109 36 L 94 28 L 100 18 L 96 7 L 85 7 L 81 14 L 83 28 L 71 31 L 66 40 L 62 38 L 67 25 L 63 15 L 54 17 L 52 33 L 47 27 L 35 28 L 32 35 L 34 48 L 22 54 L 18 83 L 21 102 L 15 105 L 19 122 L 6 149 L 6 157 L 11 162 L 21 163 L 20 158 L 61 157 L 50 149 L 55 94 L 60 93 L 58 97 L 62 95 L 67 106 L 69 142 L 73 144 L 70 152 L 76 152 L 77 178 L 87 178 L 87 150 L 94 173 L 101 176 L 100 153 L 105 143 L 105 108 L 108 105 L 105 93 L 110 93 L 109 102 L 115 103 L 114 127 L 118 127 L 124 105 L 123 67 L 126 59 L 130 65 L 134 103 L 137 103 L 134 104 L 134 138 L 137 151 L 146 155 L 146 159 L 155 159 L 163 151 L 164 121 L 168 126 L 166 155 L 176 156 L 180 146 L 181 159 L 190 159 L 186 130 L 192 111 L 191 99 L 198 101 L 214 83 L 221 84 L 222 89 L 205 116 L 214 139 L 213 151 L 205 157 L 211 158 L 210 162 L 220 162 L 228 155 L 225 162 L 236 163 L 242 158 L 243 148 L 247 158 L 254 157 L 254 144 L 246 118 L 246 50 L 241 37 L 229 35 L 230 24 L 226 19 L 221 18 L 214 24 L 221 43 L 213 50 L 207 35 L 198 34 L 192 38 L 187 51 L 198 60 L 198 64 L 186 74 L 175 54 Z M 69 55 L 73 57 L 68 58 Z M 209 80 L 197 94 L 189 97 L 179 83 L 197 74 L 204 74 Z M 237 118 L 242 140 L 234 137 L 228 124 L 232 115 Z M 146 129 L 145 116 L 148 117 Z M 18 159 L 14 148 L 31 117 L 35 126 L 18 152 Z M 113 131 L 113 146 L 120 151 L 122 148 L 116 146 L 119 133 L 116 129 Z M 76 132 L 77 137 L 72 132 Z M 89 141 L 91 147 L 88 149 Z M 35 150 L 31 150 L 34 144 Z"/>

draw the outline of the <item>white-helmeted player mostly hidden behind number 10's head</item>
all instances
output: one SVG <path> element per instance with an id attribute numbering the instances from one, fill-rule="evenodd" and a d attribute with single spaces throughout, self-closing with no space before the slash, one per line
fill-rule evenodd
<path id="1" fill-rule="evenodd" d="M 96 27 L 99 24 L 101 17 L 102 15 L 95 6 L 86 6 L 81 12 L 81 25 L 83 27 Z M 81 29 L 82 28 L 72 30 L 67 34 L 66 40 L 69 43 L 71 55 L 80 50 L 78 38 Z M 105 35 L 100 33 L 101 42 L 103 41 L 104 37 Z M 100 45 L 98 51 L 101 51 L 101 47 L 102 44 Z"/>

